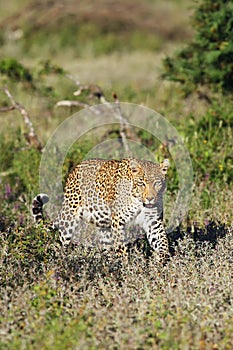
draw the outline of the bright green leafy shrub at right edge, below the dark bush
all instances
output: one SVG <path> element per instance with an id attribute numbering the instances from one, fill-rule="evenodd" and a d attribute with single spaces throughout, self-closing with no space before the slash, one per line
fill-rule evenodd
<path id="1" fill-rule="evenodd" d="M 186 129 L 188 149 L 198 178 L 221 185 L 233 181 L 232 167 L 232 104 L 213 103 L 196 120 L 190 116 Z"/>

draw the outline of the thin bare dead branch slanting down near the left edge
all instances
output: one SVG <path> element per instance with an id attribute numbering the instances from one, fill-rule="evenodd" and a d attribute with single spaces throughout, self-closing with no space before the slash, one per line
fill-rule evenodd
<path id="1" fill-rule="evenodd" d="M 6 94 L 6 96 L 11 101 L 12 105 L 9 106 L 9 107 L 1 108 L 0 112 L 8 112 L 8 111 L 12 111 L 14 109 L 18 110 L 20 112 L 20 114 L 23 116 L 24 123 L 25 123 L 26 127 L 29 129 L 29 132 L 24 134 L 24 137 L 25 137 L 26 141 L 28 142 L 28 144 L 30 146 L 35 147 L 39 151 L 42 151 L 42 144 L 41 144 L 37 134 L 35 133 L 34 127 L 33 127 L 32 122 L 31 122 L 31 119 L 30 119 L 26 109 L 21 104 L 19 104 L 18 102 L 16 102 L 14 100 L 13 96 L 11 95 L 11 93 L 8 90 L 7 87 L 4 87 L 3 90 L 4 90 L 5 94 Z"/>

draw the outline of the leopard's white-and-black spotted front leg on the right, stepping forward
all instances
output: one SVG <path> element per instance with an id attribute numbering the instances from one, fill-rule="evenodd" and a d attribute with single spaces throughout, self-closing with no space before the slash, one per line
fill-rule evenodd
<path id="1" fill-rule="evenodd" d="M 156 259 L 163 263 L 169 256 L 169 246 L 162 217 L 158 215 L 157 209 L 144 208 L 135 223 L 144 229 L 150 246 L 156 252 Z"/>

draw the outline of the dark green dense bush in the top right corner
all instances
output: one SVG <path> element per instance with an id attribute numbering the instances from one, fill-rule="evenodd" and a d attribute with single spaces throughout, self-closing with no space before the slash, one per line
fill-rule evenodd
<path id="1" fill-rule="evenodd" d="M 164 77 L 184 84 L 233 91 L 233 1 L 201 0 L 194 14 L 193 41 L 164 61 Z"/>

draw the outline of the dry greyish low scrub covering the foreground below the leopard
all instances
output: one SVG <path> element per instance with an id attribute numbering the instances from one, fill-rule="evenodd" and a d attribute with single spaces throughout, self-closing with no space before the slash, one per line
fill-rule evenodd
<path id="1" fill-rule="evenodd" d="M 3 235 L 2 347 L 230 349 L 233 236 L 220 233 L 213 246 L 184 236 L 164 267 L 142 249 L 109 262 L 45 233 L 41 253 L 41 233 Z"/>

